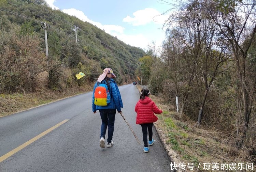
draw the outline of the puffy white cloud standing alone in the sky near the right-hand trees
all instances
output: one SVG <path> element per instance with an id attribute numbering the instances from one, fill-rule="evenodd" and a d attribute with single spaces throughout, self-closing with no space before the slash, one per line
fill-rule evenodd
<path id="1" fill-rule="evenodd" d="M 124 22 L 132 24 L 132 26 L 146 25 L 150 22 L 163 24 L 168 19 L 167 15 L 161 15 L 159 11 L 152 8 L 138 10 L 133 13 L 134 17 L 127 16 L 123 19 Z M 153 19 L 154 18 L 154 19 Z"/>

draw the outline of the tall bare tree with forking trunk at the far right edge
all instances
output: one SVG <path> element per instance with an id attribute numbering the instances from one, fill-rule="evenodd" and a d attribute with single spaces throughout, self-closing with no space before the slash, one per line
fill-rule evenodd
<path id="1" fill-rule="evenodd" d="M 227 1 L 224 1 L 222 4 L 214 2 L 213 5 L 218 7 L 219 10 L 212 11 L 209 17 L 218 26 L 219 33 L 229 43 L 230 49 L 233 52 L 233 58 L 236 61 L 237 76 L 240 81 L 243 97 L 243 106 L 241 107 L 243 109 L 243 129 L 242 131 L 237 130 L 237 145 L 243 146 L 253 106 L 252 98 L 249 95 L 250 92 L 255 92 L 255 87 L 249 87 L 249 85 L 253 84 L 247 78 L 248 68 L 246 66 L 246 59 L 256 33 L 256 2 L 254 0 L 237 1 L 232 6 L 229 6 L 229 8 L 227 8 Z M 240 109 L 239 106 L 238 104 L 237 109 Z M 238 114 L 241 115 L 241 113 Z M 240 127 L 238 126 L 238 128 Z M 242 132 L 241 138 L 239 138 L 239 132 Z"/>

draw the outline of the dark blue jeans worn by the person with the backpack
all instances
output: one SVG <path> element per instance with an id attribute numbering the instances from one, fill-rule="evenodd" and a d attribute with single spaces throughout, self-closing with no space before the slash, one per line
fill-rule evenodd
<path id="1" fill-rule="evenodd" d="M 109 127 L 107 142 L 111 143 L 114 132 L 116 109 L 100 109 L 99 111 L 102 122 L 100 128 L 100 138 L 103 137 L 105 139 L 106 128 Z"/>

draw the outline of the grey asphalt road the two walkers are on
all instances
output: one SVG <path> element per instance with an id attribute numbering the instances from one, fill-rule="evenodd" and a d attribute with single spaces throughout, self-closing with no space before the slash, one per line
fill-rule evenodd
<path id="1" fill-rule="evenodd" d="M 153 139 L 157 142 L 148 153 L 143 152 L 142 130 L 136 125 L 134 112 L 138 89 L 129 84 L 119 90 L 123 115 L 141 144 L 116 113 L 114 145 L 101 148 L 101 119 L 99 111 L 94 114 L 91 110 L 92 92 L 89 92 L 0 118 L 0 157 L 69 120 L 0 162 L 0 172 L 170 172 L 171 161 L 155 128 Z"/>

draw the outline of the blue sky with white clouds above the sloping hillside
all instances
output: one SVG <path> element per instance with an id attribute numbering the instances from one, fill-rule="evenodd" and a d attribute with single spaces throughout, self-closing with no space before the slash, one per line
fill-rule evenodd
<path id="1" fill-rule="evenodd" d="M 168 0 L 167 0 L 168 1 Z M 152 41 L 161 46 L 162 25 L 171 6 L 161 0 L 46 0 L 53 9 L 88 21 L 126 44 L 147 49 Z M 160 16 L 158 16 L 160 15 Z M 155 17 L 156 16 L 156 17 Z M 153 20 L 154 17 L 154 20 Z"/>

